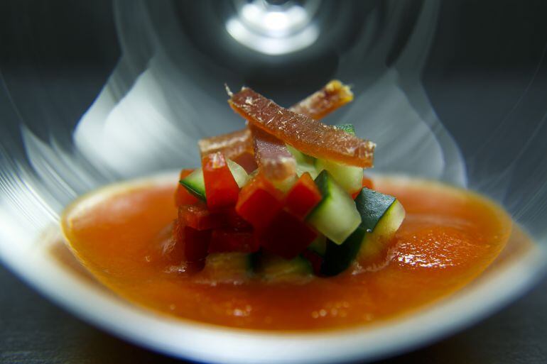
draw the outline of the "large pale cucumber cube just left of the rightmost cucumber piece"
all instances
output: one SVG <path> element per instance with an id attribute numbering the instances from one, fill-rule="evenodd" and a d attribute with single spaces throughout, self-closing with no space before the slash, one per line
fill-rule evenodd
<path id="1" fill-rule="evenodd" d="M 355 203 L 329 172 L 324 170 L 315 178 L 323 199 L 306 219 L 331 241 L 342 244 L 361 224 Z"/>

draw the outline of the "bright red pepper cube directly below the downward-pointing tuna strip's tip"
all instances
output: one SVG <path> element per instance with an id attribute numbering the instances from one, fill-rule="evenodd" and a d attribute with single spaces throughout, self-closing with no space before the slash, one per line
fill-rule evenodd
<path id="1" fill-rule="evenodd" d="M 237 214 L 254 228 L 268 226 L 282 208 L 283 194 L 262 175 L 257 175 L 242 188 L 236 204 Z"/>

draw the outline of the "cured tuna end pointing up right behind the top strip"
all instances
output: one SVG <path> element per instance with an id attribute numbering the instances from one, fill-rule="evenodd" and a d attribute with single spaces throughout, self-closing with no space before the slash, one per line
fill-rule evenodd
<path id="1" fill-rule="evenodd" d="M 291 107 L 291 111 L 302 114 L 315 120 L 320 120 L 353 100 L 350 87 L 337 79 L 327 83 L 323 89 L 306 97 Z"/>

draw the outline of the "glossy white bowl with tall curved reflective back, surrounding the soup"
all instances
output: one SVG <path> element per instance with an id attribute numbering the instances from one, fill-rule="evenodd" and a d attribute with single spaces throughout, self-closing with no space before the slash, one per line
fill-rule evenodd
<path id="1" fill-rule="evenodd" d="M 90 324 L 200 362 L 373 360 L 470 326 L 542 277 L 547 31 L 538 9 L 496 4 L 494 17 L 489 1 L 473 9 L 457 1 L 347 1 L 335 11 L 319 0 L 67 1 L 65 13 L 80 18 L 74 22 L 48 5 L 32 12 L 13 3 L 2 28 L 10 57 L 0 59 L 0 259 Z M 32 21 L 21 26 L 21 16 Z M 526 27 L 504 26 L 524 19 Z M 377 143 L 372 174 L 472 189 L 519 226 L 464 289 L 371 326 L 246 331 L 135 307 L 67 249 L 59 219 L 73 199 L 133 178 L 176 181 L 181 167 L 199 164 L 197 139 L 242 126 L 224 83 L 247 84 L 286 106 L 334 78 L 352 84 L 354 101 L 325 122 L 352 122 Z M 526 240 L 519 234 L 533 242 L 519 243 Z"/>

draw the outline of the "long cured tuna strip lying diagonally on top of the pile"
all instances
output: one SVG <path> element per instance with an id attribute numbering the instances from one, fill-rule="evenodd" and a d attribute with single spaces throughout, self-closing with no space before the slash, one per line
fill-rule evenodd
<path id="1" fill-rule="evenodd" d="M 372 167 L 376 145 L 369 140 L 359 139 L 334 126 L 283 109 L 248 87 L 233 94 L 228 103 L 249 124 L 283 140 L 302 153 L 346 165 Z"/>

